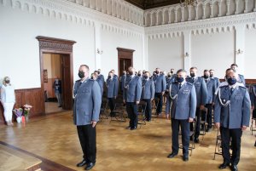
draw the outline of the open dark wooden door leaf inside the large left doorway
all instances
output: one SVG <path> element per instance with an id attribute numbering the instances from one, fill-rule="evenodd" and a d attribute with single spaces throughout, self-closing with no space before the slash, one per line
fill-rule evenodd
<path id="1" fill-rule="evenodd" d="M 61 66 L 62 66 L 62 108 L 65 110 L 72 110 L 72 91 L 73 80 L 71 69 L 71 57 L 70 54 L 61 54 Z"/>

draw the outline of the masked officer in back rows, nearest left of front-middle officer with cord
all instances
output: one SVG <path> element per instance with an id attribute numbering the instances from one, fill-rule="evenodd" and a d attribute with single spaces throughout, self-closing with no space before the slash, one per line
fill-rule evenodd
<path id="1" fill-rule="evenodd" d="M 156 68 L 155 73 L 156 73 L 156 76 L 154 78 L 154 87 L 155 87 L 154 97 L 159 99 L 157 109 L 156 109 L 156 115 L 158 117 L 162 112 L 163 95 L 166 92 L 166 77 L 163 74 L 160 74 L 160 68 Z"/>

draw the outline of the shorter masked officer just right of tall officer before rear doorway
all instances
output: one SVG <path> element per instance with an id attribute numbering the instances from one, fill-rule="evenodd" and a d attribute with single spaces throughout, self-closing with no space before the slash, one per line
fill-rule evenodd
<path id="1" fill-rule="evenodd" d="M 143 92 L 142 92 L 142 99 L 146 102 L 146 111 L 145 116 L 148 122 L 151 121 L 152 115 L 152 107 L 151 101 L 154 100 L 154 81 L 149 79 L 149 72 L 145 71 L 144 79 L 143 79 Z"/>

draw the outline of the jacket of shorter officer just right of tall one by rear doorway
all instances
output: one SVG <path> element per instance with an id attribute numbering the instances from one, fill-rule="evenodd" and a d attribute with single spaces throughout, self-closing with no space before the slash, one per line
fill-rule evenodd
<path id="1" fill-rule="evenodd" d="M 152 79 L 143 79 L 143 100 L 154 99 L 154 81 Z"/>

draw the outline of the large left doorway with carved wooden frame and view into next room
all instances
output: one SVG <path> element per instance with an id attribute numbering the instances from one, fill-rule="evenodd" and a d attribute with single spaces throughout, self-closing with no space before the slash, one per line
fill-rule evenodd
<path id="1" fill-rule="evenodd" d="M 43 111 L 49 114 L 72 110 L 75 42 L 52 37 L 37 39 L 40 48 L 41 95 L 45 101 Z"/>

